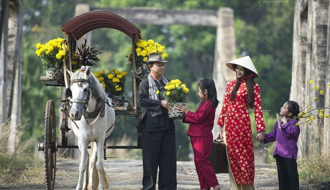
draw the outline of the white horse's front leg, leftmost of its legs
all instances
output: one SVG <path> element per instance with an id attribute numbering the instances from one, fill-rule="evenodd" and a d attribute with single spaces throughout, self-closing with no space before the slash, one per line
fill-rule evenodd
<path id="1" fill-rule="evenodd" d="M 81 190 L 83 185 L 84 173 L 86 171 L 87 163 L 86 163 L 86 155 L 87 155 L 87 147 L 88 147 L 88 139 L 80 136 L 78 140 L 78 144 L 80 144 L 80 152 L 81 152 L 81 161 L 79 165 L 79 179 L 76 189 Z"/>

